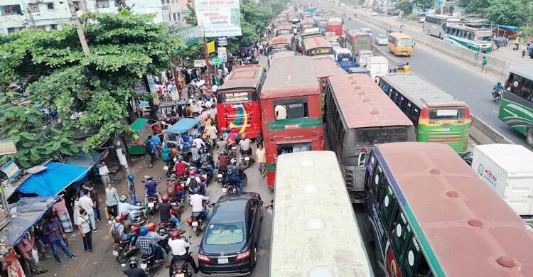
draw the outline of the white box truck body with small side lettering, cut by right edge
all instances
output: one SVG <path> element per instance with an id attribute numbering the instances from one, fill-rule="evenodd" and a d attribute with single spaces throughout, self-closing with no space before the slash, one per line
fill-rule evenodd
<path id="1" fill-rule="evenodd" d="M 517 214 L 533 215 L 533 152 L 517 144 L 475 146 L 472 169 Z"/>

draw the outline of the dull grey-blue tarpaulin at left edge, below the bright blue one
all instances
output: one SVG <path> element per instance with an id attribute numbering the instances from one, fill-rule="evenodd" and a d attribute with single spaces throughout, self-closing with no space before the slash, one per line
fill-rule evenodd
<path id="1" fill-rule="evenodd" d="M 11 245 L 18 244 L 23 235 L 35 224 L 43 214 L 50 210 L 59 196 L 50 197 L 25 197 L 11 205 L 11 222 L 1 230 L 0 235 L 6 237 L 6 241 Z M 16 212 L 14 210 L 16 209 Z"/>

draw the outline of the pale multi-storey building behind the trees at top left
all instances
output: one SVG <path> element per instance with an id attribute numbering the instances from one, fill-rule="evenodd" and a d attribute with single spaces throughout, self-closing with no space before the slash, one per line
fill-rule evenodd
<path id="1" fill-rule="evenodd" d="M 117 13 L 124 0 L 72 1 L 78 14 L 84 11 Z M 181 26 L 181 4 L 187 0 L 125 0 L 133 13 L 154 13 L 154 22 L 168 23 L 171 28 Z M 67 0 L 0 0 L 0 33 L 11 33 L 23 28 L 53 30 L 70 24 Z"/>

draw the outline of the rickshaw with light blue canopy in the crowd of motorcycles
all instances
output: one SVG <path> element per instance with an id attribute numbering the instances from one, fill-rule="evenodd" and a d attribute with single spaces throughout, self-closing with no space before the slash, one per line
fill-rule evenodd
<path id="1" fill-rule="evenodd" d="M 176 124 L 168 127 L 165 131 L 163 146 L 175 145 L 176 149 L 182 153 L 184 161 L 190 161 L 191 146 L 194 136 L 200 136 L 201 125 L 198 119 L 181 119 Z"/>

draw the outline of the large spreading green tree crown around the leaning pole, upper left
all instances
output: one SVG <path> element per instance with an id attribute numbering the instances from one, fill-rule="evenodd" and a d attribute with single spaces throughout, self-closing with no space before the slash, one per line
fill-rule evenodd
<path id="1" fill-rule="evenodd" d="M 97 23 L 86 25 L 87 57 L 74 26 L 68 25 L 60 31 L 16 32 L 0 45 L 0 88 L 28 80 L 26 92 L 36 104 L 58 112 L 65 134 L 87 136 L 81 141 L 84 150 L 129 129 L 124 117 L 134 97 L 132 86 L 146 74 L 171 67 L 170 46 L 181 45 L 151 15 L 123 9 L 91 18 Z M 69 119 L 80 112 L 80 120 Z"/>

